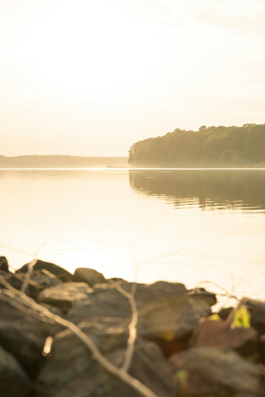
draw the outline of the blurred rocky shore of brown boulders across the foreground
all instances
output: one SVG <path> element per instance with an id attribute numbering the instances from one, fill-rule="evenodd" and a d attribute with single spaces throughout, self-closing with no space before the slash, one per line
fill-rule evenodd
<path id="1" fill-rule="evenodd" d="M 217 315 L 214 293 L 181 283 L 71 274 L 41 260 L 31 270 L 14 274 L 0 257 L 1 396 L 265 397 L 264 303 L 244 298 Z"/>

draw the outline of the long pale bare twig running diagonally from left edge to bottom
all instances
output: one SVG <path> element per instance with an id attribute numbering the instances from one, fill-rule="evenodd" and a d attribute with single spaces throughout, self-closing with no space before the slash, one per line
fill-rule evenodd
<path id="1" fill-rule="evenodd" d="M 22 294 L 21 292 L 15 290 L 15 288 L 11 287 L 11 285 L 1 275 L 0 275 L 0 281 L 7 289 L 9 289 L 12 292 L 15 292 L 16 295 L 20 295 L 23 301 L 27 302 L 32 308 L 38 310 L 39 312 L 42 312 L 46 317 L 50 318 L 51 320 L 54 320 L 56 323 L 71 330 L 74 333 L 74 335 L 92 353 L 93 358 L 95 358 L 95 360 L 97 360 L 97 362 L 99 362 L 99 364 L 103 366 L 103 368 L 105 368 L 110 374 L 116 376 L 118 379 L 120 379 L 129 387 L 131 387 L 142 397 L 158 397 L 147 386 L 139 382 L 139 380 L 133 378 L 133 376 L 128 374 L 128 372 L 124 371 L 124 369 L 118 368 L 110 361 L 108 361 L 99 351 L 98 347 L 95 345 L 92 339 L 88 335 L 86 335 L 83 331 L 81 331 L 80 328 L 78 328 L 74 323 L 68 320 L 64 320 L 57 314 L 51 313 L 47 308 L 39 305 L 33 299 L 27 297 L 27 295 Z"/>

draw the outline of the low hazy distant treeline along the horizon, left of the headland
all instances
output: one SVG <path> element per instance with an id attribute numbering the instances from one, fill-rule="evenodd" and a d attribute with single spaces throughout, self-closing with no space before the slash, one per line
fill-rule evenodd
<path id="1" fill-rule="evenodd" d="M 0 168 L 91 168 L 128 166 L 127 157 L 81 157 L 81 156 L 16 156 L 0 155 Z"/>

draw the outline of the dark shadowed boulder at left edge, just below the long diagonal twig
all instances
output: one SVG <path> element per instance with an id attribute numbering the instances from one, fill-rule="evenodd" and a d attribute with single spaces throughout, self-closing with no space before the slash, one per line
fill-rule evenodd
<path id="1" fill-rule="evenodd" d="M 25 306 L 23 299 L 11 291 L 2 290 L 1 298 L 0 345 L 34 378 L 42 364 L 44 341 L 58 331 L 58 326 L 45 322 L 45 318 L 42 321 L 35 310 Z"/>

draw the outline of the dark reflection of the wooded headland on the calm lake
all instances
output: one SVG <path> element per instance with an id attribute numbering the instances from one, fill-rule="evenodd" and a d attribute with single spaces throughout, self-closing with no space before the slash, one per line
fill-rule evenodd
<path id="1" fill-rule="evenodd" d="M 137 193 L 168 199 L 177 207 L 265 210 L 265 170 L 131 170 L 129 181 Z"/>

